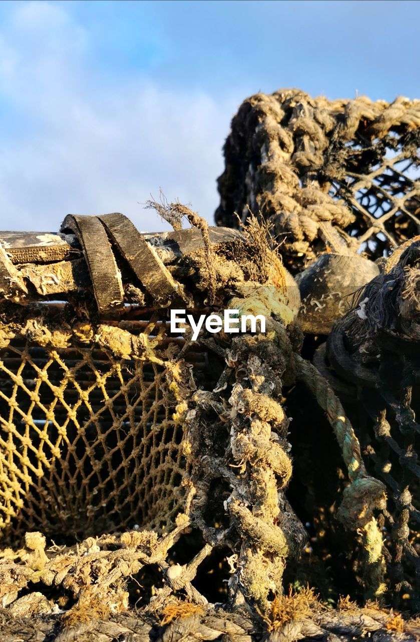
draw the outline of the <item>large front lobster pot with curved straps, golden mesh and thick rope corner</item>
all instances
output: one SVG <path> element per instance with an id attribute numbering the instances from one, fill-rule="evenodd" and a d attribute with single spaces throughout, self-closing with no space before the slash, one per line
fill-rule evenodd
<path id="1" fill-rule="evenodd" d="M 177 231 L 141 235 L 112 214 L 67 217 L 59 235 L 2 236 L 4 639 L 19 622 L 57 639 L 130 627 L 326 638 L 329 627 L 353 636 L 357 618 L 385 635 L 392 615 L 378 603 L 329 611 L 307 587 L 315 558 L 326 568 L 286 496 L 283 394 L 303 386 L 328 417 L 344 471 L 332 471 L 337 537 L 348 534 L 348 572 L 372 600 L 388 581 L 374 515 L 384 487 L 339 399 L 299 356 L 298 288 L 267 226 L 209 229 L 179 204 L 155 205 Z M 192 228 L 179 229 L 181 216 Z M 171 332 L 170 308 L 262 313 L 266 332 L 202 329 L 193 341 L 190 327 Z M 416 623 L 395 626 L 411 639 Z"/>

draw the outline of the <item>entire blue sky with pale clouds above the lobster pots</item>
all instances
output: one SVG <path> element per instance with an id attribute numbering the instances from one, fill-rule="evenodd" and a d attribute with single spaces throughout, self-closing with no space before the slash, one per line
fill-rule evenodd
<path id="1" fill-rule="evenodd" d="M 246 96 L 419 98 L 417 1 L 0 3 L 0 229 L 143 209 L 159 188 L 212 220 Z"/>

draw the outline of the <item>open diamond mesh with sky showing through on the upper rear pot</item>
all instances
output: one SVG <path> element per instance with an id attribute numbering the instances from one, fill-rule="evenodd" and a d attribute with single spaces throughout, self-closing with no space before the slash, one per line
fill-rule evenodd
<path id="1" fill-rule="evenodd" d="M 345 148 L 343 177 L 332 180 L 329 194 L 353 213 L 346 232 L 357 239 L 354 247 L 376 259 L 419 233 L 418 133 L 387 133 L 372 144 L 359 134 L 357 140 Z"/>

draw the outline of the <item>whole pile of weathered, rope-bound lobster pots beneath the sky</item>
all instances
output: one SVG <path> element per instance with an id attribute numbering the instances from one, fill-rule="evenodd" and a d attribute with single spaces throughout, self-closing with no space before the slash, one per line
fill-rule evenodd
<path id="1" fill-rule="evenodd" d="M 0 233 L 4 639 L 416 639 L 419 127 L 258 94 L 219 227 Z"/>

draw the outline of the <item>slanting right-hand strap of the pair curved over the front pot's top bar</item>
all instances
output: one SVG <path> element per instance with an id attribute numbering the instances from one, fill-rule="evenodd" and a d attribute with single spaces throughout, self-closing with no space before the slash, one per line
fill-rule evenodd
<path id="1" fill-rule="evenodd" d="M 105 225 L 122 256 L 130 265 L 139 281 L 156 301 L 168 300 L 175 293 L 182 295 L 182 286 L 124 214 L 114 213 L 98 216 Z"/>

